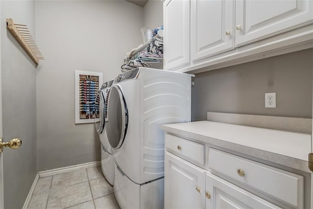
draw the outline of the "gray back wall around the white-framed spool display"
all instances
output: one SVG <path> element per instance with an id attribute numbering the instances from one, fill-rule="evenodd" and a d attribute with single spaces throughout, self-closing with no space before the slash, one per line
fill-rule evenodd
<path id="1" fill-rule="evenodd" d="M 36 1 L 36 36 L 45 60 L 37 72 L 40 171 L 100 160 L 94 124 L 75 125 L 74 70 L 116 77 L 142 42 L 143 8 L 124 0 Z"/>

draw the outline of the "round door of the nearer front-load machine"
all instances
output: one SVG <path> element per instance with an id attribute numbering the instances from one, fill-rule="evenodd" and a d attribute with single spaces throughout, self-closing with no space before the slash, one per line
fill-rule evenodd
<path id="1" fill-rule="evenodd" d="M 128 125 L 128 113 L 123 94 L 118 86 L 112 86 L 108 101 L 106 132 L 113 149 L 122 146 Z"/>

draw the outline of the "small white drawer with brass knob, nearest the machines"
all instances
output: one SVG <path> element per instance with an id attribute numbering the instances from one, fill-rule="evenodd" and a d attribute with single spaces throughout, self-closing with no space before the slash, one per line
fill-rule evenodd
<path id="1" fill-rule="evenodd" d="M 181 157 L 204 165 L 204 144 L 165 134 L 165 148 Z"/>

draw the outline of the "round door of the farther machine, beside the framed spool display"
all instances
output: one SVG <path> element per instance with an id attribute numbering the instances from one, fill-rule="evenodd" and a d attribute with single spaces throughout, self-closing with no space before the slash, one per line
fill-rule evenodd
<path id="1" fill-rule="evenodd" d="M 105 99 L 101 90 L 97 93 L 95 106 L 96 115 L 99 113 L 100 118 L 94 118 L 94 124 L 98 134 L 102 134 L 105 126 Z"/>

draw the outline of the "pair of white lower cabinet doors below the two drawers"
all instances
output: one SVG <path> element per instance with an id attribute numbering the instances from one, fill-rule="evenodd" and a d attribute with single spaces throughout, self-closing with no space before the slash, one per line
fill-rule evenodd
<path id="1" fill-rule="evenodd" d="M 279 208 L 168 152 L 165 174 L 165 209 Z"/>

